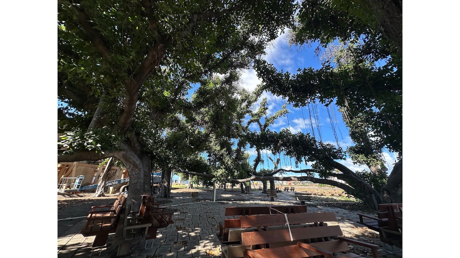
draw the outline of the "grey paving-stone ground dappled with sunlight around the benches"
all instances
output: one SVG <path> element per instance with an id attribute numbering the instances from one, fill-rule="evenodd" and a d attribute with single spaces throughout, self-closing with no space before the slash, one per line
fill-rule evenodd
<path id="1" fill-rule="evenodd" d="M 98 201 L 84 202 L 78 204 L 68 204 L 58 210 L 58 237 L 57 237 L 57 256 L 58 258 L 89 258 L 92 252 L 92 241 L 94 237 L 84 237 L 80 234 L 87 211 L 93 205 L 104 205 L 113 203 L 116 194 L 108 196 L 106 199 Z M 155 202 L 160 202 L 169 211 L 173 211 L 174 224 L 166 229 L 161 229 L 155 239 L 153 248 L 144 249 L 145 241 L 138 241 L 131 247 L 129 254 L 125 257 L 132 258 L 195 258 L 207 257 L 207 250 L 219 249 L 219 239 L 216 236 L 219 221 L 226 219 L 224 208 L 229 206 L 264 206 L 264 205 L 289 205 L 299 204 L 294 200 L 292 192 L 282 192 L 275 202 L 269 202 L 269 197 L 261 192 L 253 192 L 244 198 L 250 201 L 243 201 L 238 193 L 229 191 L 218 191 L 216 202 L 213 200 L 212 191 L 200 191 L 198 198 L 190 198 L 190 192 L 183 190 L 172 191 L 171 198 L 155 198 Z M 211 201 L 210 201 L 211 200 Z M 69 209 L 73 205 L 78 205 L 80 213 L 69 214 Z M 86 207 L 88 206 L 88 207 Z M 74 207 L 75 210 L 75 207 Z M 316 207 L 308 207 L 308 212 L 334 212 L 345 237 L 351 237 L 362 241 L 369 241 L 382 246 L 380 253 L 385 258 L 402 258 L 402 251 L 394 247 L 391 254 L 391 247 L 385 248 L 379 241 L 378 233 L 362 227 L 356 223 L 358 220 L 355 211 L 348 211 L 341 208 L 322 207 L 318 203 Z M 77 218 L 77 219 L 73 219 Z M 334 224 L 334 223 L 328 223 Z M 101 258 L 115 258 L 117 246 L 111 244 L 109 236 L 106 247 L 102 249 Z M 150 247 L 150 242 L 149 242 Z M 365 248 L 356 247 L 355 252 L 364 257 L 369 256 Z M 98 250 L 97 250 L 98 251 Z M 385 252 L 386 251 L 386 252 Z M 390 252 L 388 252 L 390 251 Z M 92 257 L 97 257 L 98 252 L 94 252 Z M 220 256 L 219 256 L 220 257 Z"/>

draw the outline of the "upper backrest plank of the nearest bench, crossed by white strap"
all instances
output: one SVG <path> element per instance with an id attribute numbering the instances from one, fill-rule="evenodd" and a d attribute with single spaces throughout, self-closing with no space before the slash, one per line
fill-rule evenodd
<path id="1" fill-rule="evenodd" d="M 335 214 L 333 212 L 291 213 L 287 214 L 287 217 L 289 224 L 322 224 L 323 222 L 337 221 L 337 218 L 335 217 Z M 284 214 L 242 216 L 239 220 L 241 228 L 276 226 L 286 224 L 286 217 L 284 216 Z"/>

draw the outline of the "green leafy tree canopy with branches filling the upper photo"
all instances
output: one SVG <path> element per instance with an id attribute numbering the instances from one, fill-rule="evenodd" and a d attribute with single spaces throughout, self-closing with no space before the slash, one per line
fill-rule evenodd
<path id="1" fill-rule="evenodd" d="M 349 183 L 340 186 L 370 189 L 360 196 L 370 203 L 379 193 L 336 161 L 345 151 L 309 134 L 271 131 L 288 111 L 284 105 L 267 117 L 267 100 L 260 97 L 268 90 L 294 107 L 335 102 L 356 143 L 347 151 L 357 163 L 380 166 L 384 147 L 402 155 L 402 55 L 393 22 L 399 16 L 388 6 L 376 11 L 383 4 L 59 0 L 58 130 L 67 150 L 58 161 L 115 157 L 129 171 L 132 198 L 149 189 L 148 174 L 159 168 L 159 194 L 167 197 L 173 170 L 232 183 L 288 179 L 273 177 L 283 170 L 258 172 L 266 149 L 313 162 L 303 173 L 319 173 L 321 179 L 305 177 L 314 182 L 326 182 L 338 169 Z M 343 47 L 320 69 L 279 72 L 262 56 L 284 28 L 293 45 Z M 254 92 L 238 87 L 241 71 L 250 67 L 263 79 Z M 258 130 L 249 129 L 254 123 Z M 247 144 L 258 152 L 252 164 Z"/>

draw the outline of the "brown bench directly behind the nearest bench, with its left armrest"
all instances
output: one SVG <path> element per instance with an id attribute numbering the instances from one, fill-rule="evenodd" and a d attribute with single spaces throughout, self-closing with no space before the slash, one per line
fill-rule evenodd
<path id="1" fill-rule="evenodd" d="M 304 205 L 280 205 L 270 206 L 282 213 L 306 213 L 307 207 Z M 256 207 L 225 207 L 224 216 L 247 216 L 247 215 L 261 215 L 276 213 L 274 210 L 270 210 L 268 206 L 256 206 Z M 217 237 L 221 243 L 228 242 L 228 230 L 231 228 L 240 228 L 240 219 L 224 219 L 219 222 L 219 232 Z"/>

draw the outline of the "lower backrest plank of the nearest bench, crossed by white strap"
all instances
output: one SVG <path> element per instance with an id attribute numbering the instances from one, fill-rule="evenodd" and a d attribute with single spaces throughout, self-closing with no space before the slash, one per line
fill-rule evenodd
<path id="1" fill-rule="evenodd" d="M 293 242 L 321 237 L 341 236 L 342 230 L 339 225 L 306 227 L 291 229 Z M 270 244 L 283 241 L 291 241 L 288 229 L 267 230 L 241 233 L 243 246 Z"/>

